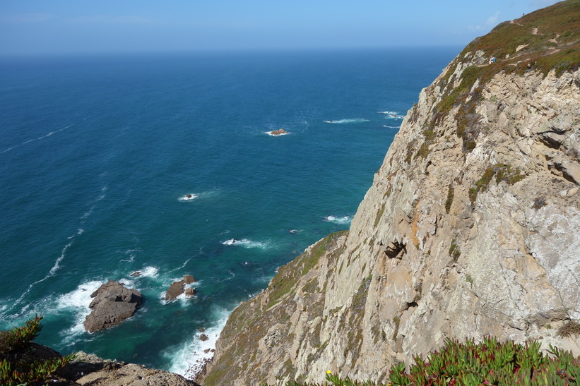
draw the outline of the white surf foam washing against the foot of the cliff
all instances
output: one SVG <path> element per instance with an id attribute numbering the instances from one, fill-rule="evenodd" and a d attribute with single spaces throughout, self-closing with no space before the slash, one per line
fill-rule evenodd
<path id="1" fill-rule="evenodd" d="M 211 360 L 213 357 L 211 350 L 215 349 L 215 341 L 218 340 L 220 332 L 223 330 L 225 322 L 227 321 L 227 316 L 230 315 L 230 311 L 222 309 L 216 311 L 215 314 L 218 322 L 214 326 L 208 327 L 204 332 L 196 332 L 192 340 L 184 342 L 180 346 L 175 346 L 172 349 L 167 349 L 162 353 L 166 358 L 171 358 L 169 370 L 172 373 L 193 379 L 203 368 L 203 364 Z M 208 340 L 202 341 L 199 339 L 202 333 L 208 337 Z"/>

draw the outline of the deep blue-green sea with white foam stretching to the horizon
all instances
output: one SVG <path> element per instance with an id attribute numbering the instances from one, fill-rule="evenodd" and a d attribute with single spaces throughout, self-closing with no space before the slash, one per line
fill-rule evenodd
<path id="1" fill-rule="evenodd" d="M 0 329 L 38 313 L 37 342 L 63 354 L 190 375 L 239 301 L 348 229 L 406 111 L 458 52 L 0 59 Z M 197 295 L 166 302 L 187 274 Z M 90 294 L 110 279 L 146 301 L 88 334 Z"/>

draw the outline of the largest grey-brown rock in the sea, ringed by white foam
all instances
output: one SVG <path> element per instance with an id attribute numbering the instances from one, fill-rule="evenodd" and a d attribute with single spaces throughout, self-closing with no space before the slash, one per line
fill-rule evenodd
<path id="1" fill-rule="evenodd" d="M 130 318 L 143 303 L 141 292 L 125 288 L 124 284 L 114 280 L 102 284 L 90 297 L 94 299 L 88 307 L 93 311 L 83 323 L 88 332 L 118 325 Z"/>

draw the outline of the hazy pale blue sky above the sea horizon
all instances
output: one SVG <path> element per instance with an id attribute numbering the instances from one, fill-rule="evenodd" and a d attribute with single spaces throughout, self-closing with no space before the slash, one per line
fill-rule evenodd
<path id="1" fill-rule="evenodd" d="M 465 46 L 553 0 L 0 0 L 0 56 Z"/>

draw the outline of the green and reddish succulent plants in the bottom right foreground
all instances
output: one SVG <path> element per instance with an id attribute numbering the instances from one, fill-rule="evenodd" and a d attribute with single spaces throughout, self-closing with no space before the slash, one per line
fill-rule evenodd
<path id="1" fill-rule="evenodd" d="M 441 351 L 427 360 L 415 357 L 405 366 L 391 368 L 391 384 L 398 385 L 576 385 L 580 360 L 550 345 L 550 358 L 540 352 L 540 343 L 500 343 L 492 337 L 475 344 L 447 339 Z"/>

